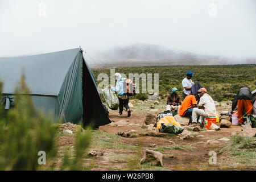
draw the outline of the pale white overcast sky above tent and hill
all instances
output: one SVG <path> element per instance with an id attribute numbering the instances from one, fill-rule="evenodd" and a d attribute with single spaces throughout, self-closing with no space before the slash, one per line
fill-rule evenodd
<path id="1" fill-rule="evenodd" d="M 0 0 L 0 56 L 146 43 L 256 57 L 255 0 Z"/>

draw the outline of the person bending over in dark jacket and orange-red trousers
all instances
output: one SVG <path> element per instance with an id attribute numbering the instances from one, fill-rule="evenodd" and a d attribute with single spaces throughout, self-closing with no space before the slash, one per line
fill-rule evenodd
<path id="1" fill-rule="evenodd" d="M 232 103 L 232 113 L 237 106 L 238 122 L 240 125 L 243 124 L 243 109 L 245 109 L 245 114 L 251 114 L 253 111 L 253 105 L 251 104 L 252 99 L 253 96 L 251 94 L 251 91 L 247 87 L 241 88 L 238 91 L 237 95 L 234 97 Z"/>

